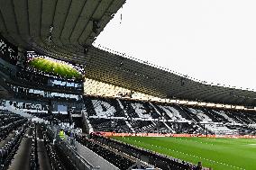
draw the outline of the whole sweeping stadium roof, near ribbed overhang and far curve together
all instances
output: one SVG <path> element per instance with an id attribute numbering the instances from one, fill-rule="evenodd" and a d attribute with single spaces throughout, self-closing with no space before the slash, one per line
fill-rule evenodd
<path id="1" fill-rule="evenodd" d="M 256 93 L 206 85 L 90 47 L 125 0 L 0 0 L 0 33 L 23 49 L 87 66 L 87 77 L 162 98 L 256 105 Z M 85 55 L 86 54 L 86 55 Z"/>

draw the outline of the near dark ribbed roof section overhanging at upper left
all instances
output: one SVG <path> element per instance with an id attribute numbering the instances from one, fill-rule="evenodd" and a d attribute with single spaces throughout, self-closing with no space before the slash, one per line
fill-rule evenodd
<path id="1" fill-rule="evenodd" d="M 76 58 L 125 0 L 0 0 L 0 32 L 23 49 Z"/>

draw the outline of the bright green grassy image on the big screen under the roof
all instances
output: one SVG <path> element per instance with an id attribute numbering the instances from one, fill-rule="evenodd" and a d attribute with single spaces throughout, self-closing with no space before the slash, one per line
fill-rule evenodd
<path id="1" fill-rule="evenodd" d="M 29 65 L 41 70 L 45 73 L 50 73 L 55 76 L 61 76 L 66 78 L 82 78 L 82 75 L 78 72 L 77 69 L 69 66 L 68 64 L 59 63 L 48 58 L 33 58 Z"/>

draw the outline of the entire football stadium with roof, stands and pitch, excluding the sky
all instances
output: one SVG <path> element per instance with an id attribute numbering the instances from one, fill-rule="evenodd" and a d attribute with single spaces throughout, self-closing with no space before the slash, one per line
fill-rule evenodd
<path id="1" fill-rule="evenodd" d="M 255 91 L 95 45 L 126 3 L 0 0 L 0 170 L 255 170 Z"/>

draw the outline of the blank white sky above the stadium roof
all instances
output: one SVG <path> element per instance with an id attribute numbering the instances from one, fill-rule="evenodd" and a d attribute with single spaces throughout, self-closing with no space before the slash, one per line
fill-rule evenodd
<path id="1" fill-rule="evenodd" d="M 256 89 L 255 9 L 255 0 L 127 0 L 96 45 L 206 82 Z"/>

